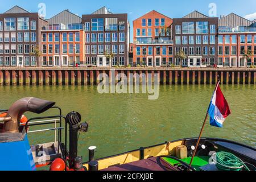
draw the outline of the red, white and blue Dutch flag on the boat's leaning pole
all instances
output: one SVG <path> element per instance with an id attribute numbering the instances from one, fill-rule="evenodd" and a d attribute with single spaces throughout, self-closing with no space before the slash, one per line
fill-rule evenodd
<path id="1" fill-rule="evenodd" d="M 212 101 L 210 102 L 208 114 L 210 117 L 210 125 L 222 127 L 225 119 L 231 114 L 228 102 L 226 101 L 220 89 L 220 81 L 213 93 Z"/>

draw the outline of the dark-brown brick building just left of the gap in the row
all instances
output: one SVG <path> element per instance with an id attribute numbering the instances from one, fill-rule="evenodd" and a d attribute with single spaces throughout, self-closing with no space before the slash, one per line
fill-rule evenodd
<path id="1" fill-rule="evenodd" d="M 127 14 L 111 13 L 106 7 L 82 15 L 85 26 L 85 63 L 97 67 L 127 65 L 129 60 L 129 22 Z M 113 54 L 112 60 L 106 55 Z"/>

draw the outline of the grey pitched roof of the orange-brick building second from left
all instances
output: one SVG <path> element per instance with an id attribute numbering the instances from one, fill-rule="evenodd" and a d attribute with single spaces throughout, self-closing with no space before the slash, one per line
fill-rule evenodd
<path id="1" fill-rule="evenodd" d="M 52 16 L 48 19 L 49 24 L 72 24 L 72 23 L 81 23 L 82 18 L 76 14 L 71 13 L 69 10 L 61 11 L 59 14 Z"/>

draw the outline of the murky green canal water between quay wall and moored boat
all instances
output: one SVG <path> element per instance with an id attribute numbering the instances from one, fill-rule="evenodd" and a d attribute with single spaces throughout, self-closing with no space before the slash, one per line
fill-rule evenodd
<path id="1" fill-rule="evenodd" d="M 204 137 L 235 140 L 256 147 L 256 85 L 221 85 L 232 110 L 224 128 L 209 125 Z M 181 138 L 198 137 L 214 85 L 160 86 L 158 100 L 147 94 L 100 94 L 97 86 L 2 86 L 0 108 L 19 98 L 55 101 L 63 113 L 78 111 L 89 123 L 81 133 L 79 154 L 88 159 L 89 146 L 96 158 L 119 154 Z M 47 111 L 47 114 L 57 114 Z M 38 115 L 27 113 L 28 118 Z M 53 127 L 53 126 L 51 126 Z M 42 129 L 31 127 L 30 130 Z M 31 144 L 52 142 L 53 132 L 29 135 Z"/>

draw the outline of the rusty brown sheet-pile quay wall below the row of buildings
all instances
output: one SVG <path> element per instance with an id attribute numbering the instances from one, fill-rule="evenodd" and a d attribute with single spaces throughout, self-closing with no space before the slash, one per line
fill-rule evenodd
<path id="1" fill-rule="evenodd" d="M 158 73 L 159 82 L 172 84 L 256 84 L 255 68 L 0 68 L 0 85 L 97 85 L 100 73 L 127 77 Z M 143 73 L 143 74 L 142 74 Z M 109 81 L 113 80 L 109 78 Z M 133 80 L 136 81 L 136 78 Z M 153 79 L 154 81 L 154 79 Z M 115 79 L 115 82 L 118 80 Z"/>

